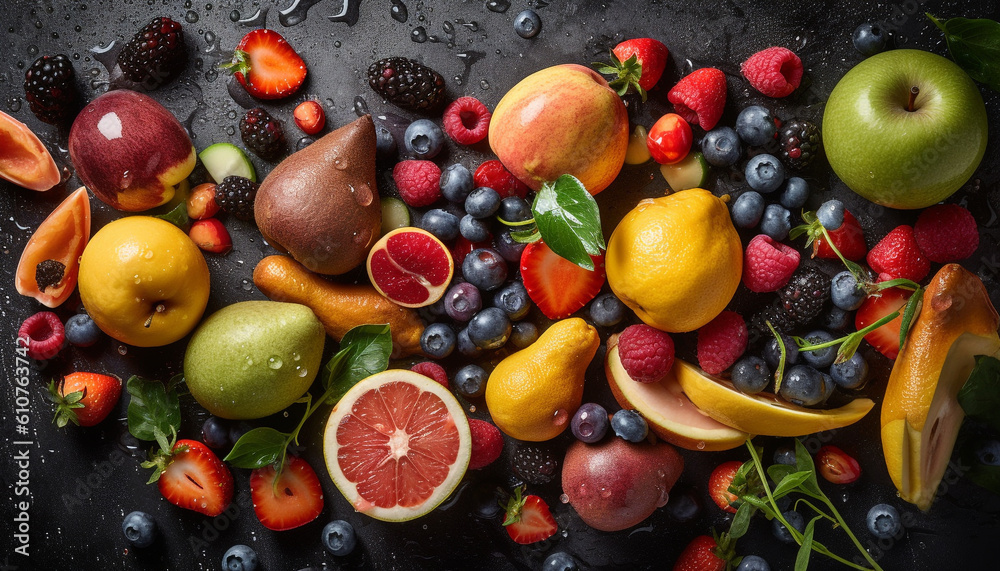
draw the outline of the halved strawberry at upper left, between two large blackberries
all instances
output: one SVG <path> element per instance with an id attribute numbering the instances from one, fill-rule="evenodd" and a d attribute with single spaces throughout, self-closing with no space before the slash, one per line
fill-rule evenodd
<path id="1" fill-rule="evenodd" d="M 306 64 L 274 30 L 252 30 L 243 36 L 233 61 L 222 67 L 259 99 L 281 99 L 295 93 L 306 79 Z"/>

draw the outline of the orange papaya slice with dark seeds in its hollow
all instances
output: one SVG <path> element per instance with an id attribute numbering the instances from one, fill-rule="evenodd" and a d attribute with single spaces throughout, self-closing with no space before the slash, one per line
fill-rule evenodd
<path id="1" fill-rule="evenodd" d="M 76 289 L 80 256 L 90 240 L 90 197 L 81 186 L 31 235 L 14 275 L 17 293 L 57 307 Z"/>

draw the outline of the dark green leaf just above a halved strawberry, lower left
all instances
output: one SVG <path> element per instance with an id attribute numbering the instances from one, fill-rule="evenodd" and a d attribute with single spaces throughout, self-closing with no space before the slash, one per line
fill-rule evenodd
<path id="1" fill-rule="evenodd" d="M 162 445 L 164 435 L 176 434 L 181 425 L 181 405 L 173 383 L 133 376 L 125 388 L 132 395 L 128 403 L 128 431 L 132 436 Z"/>

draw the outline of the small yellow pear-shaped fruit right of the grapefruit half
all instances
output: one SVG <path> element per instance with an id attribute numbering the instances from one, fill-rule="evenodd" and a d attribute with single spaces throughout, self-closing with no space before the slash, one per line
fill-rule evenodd
<path id="1" fill-rule="evenodd" d="M 601 339 L 586 321 L 557 321 L 526 349 L 507 356 L 486 382 L 486 406 L 500 430 L 518 440 L 559 436 L 583 400 L 587 365 Z"/>

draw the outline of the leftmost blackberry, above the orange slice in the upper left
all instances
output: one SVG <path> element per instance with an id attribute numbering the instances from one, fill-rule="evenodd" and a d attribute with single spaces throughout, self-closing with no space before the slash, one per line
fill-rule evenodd
<path id="1" fill-rule="evenodd" d="M 42 56 L 24 74 L 24 98 L 40 121 L 51 125 L 69 122 L 79 97 L 76 72 L 65 54 Z"/>

